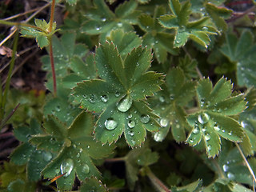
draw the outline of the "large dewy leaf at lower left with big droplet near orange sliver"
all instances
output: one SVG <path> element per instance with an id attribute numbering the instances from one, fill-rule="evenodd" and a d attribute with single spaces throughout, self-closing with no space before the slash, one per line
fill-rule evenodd
<path id="1" fill-rule="evenodd" d="M 30 142 L 39 148 L 49 150 L 53 141 L 58 143 L 58 155 L 42 170 L 45 178 L 58 178 L 59 190 L 70 190 L 74 184 L 75 174 L 79 180 L 91 176 L 99 177 L 99 172 L 91 158 L 105 158 L 114 147 L 102 146 L 91 137 L 93 128 L 92 117 L 85 112 L 78 115 L 74 122 L 67 127 L 54 116 L 50 116 L 44 123 L 47 134 L 34 135 Z M 51 142 L 46 142 L 47 140 Z"/>

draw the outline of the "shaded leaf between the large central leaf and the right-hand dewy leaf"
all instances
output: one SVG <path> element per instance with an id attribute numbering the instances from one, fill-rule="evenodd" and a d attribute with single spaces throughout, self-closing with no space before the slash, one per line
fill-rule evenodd
<path id="1" fill-rule="evenodd" d="M 179 85 L 179 86 L 177 86 Z M 171 132 L 177 142 L 186 140 L 186 130 L 190 126 L 186 122 L 186 113 L 182 109 L 190 102 L 195 94 L 195 82 L 185 80 L 185 76 L 179 68 L 174 68 L 166 75 L 166 86 L 158 92 L 155 98 L 150 100 L 150 105 L 161 118 L 158 119 L 161 130 L 154 134 L 154 140 L 162 142 L 171 126 Z"/>

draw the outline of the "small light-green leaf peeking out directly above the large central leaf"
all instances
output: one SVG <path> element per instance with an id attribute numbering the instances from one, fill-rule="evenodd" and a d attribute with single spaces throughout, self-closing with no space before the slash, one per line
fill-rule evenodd
<path id="1" fill-rule="evenodd" d="M 112 30 L 108 41 L 114 42 L 118 47 L 118 52 L 122 58 L 125 58 L 135 47 L 142 44 L 141 38 L 134 32 L 125 33 L 123 30 Z"/>

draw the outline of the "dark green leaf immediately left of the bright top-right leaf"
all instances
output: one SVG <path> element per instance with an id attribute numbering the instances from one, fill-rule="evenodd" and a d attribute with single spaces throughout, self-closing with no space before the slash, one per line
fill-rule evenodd
<path id="1" fill-rule="evenodd" d="M 143 46 L 150 46 L 158 62 L 165 62 L 167 53 L 177 55 L 178 50 L 174 49 L 174 35 L 164 32 L 162 26 L 158 24 L 158 14 L 165 14 L 166 10 L 162 6 L 156 6 L 154 18 L 148 14 L 142 14 L 138 18 L 138 24 L 146 33 L 143 35 Z"/>

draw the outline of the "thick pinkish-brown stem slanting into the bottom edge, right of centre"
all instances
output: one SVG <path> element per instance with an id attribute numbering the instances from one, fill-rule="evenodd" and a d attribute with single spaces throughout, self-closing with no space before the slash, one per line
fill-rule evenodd
<path id="1" fill-rule="evenodd" d="M 171 190 L 168 189 L 168 187 L 165 186 L 165 184 L 163 184 L 162 181 L 153 174 L 150 167 L 143 167 L 142 172 L 143 174 L 146 174 L 148 178 L 150 178 L 150 182 L 152 182 L 152 185 L 156 188 L 156 190 L 159 192 L 171 192 Z"/>

